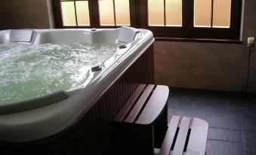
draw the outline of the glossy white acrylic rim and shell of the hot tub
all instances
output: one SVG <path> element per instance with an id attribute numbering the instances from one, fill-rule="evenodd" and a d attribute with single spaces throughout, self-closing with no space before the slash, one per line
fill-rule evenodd
<path id="1" fill-rule="evenodd" d="M 23 111 L 15 114 L 0 115 L 0 141 L 33 141 L 54 135 L 66 129 L 82 114 L 97 96 L 103 93 L 109 84 L 113 83 L 128 65 L 134 62 L 144 50 L 153 44 L 152 32 L 139 29 L 143 38 L 128 44 L 128 50 L 119 50 L 122 56 L 115 62 L 111 58 L 105 62 L 105 68 L 88 74 L 85 87 L 68 93 L 68 98 L 42 108 Z M 62 31 L 62 32 L 61 32 Z M 31 44 L 51 42 L 107 42 L 117 41 L 119 29 L 97 30 L 89 29 L 48 29 L 35 30 Z M 4 36 L 2 35 L 4 34 Z M 8 30 L 0 31 L 0 43 L 8 43 Z M 54 34 L 54 35 L 53 35 Z M 113 58 L 115 59 L 115 58 Z M 112 64 L 108 66 L 108 63 Z M 104 65 L 104 64 L 103 64 Z"/>

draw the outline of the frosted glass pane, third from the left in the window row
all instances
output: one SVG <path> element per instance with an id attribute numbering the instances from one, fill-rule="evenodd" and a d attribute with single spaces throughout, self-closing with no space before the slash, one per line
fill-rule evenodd
<path id="1" fill-rule="evenodd" d="M 113 0 L 99 0 L 100 25 L 115 26 Z"/>

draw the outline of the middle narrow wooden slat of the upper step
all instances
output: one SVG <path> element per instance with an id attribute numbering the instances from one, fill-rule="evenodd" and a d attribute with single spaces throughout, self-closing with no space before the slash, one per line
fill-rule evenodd
<path id="1" fill-rule="evenodd" d="M 134 120 L 137 118 L 137 115 L 142 110 L 143 106 L 146 104 L 146 101 L 148 97 L 150 96 L 151 91 L 153 90 L 154 85 L 149 84 L 144 90 L 143 94 L 140 96 L 140 99 L 137 101 L 136 105 L 134 105 L 134 108 L 131 110 L 131 113 L 126 118 L 126 123 L 133 123 Z"/>

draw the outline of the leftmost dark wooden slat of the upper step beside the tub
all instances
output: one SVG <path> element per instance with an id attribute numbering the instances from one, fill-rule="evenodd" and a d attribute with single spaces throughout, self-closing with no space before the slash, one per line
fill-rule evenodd
<path id="1" fill-rule="evenodd" d="M 125 105 L 122 107 L 121 111 L 119 111 L 119 114 L 116 115 L 115 121 L 122 122 L 124 120 L 125 116 L 128 114 L 128 112 L 131 110 L 131 107 L 134 105 L 137 98 L 140 96 L 144 88 L 146 87 L 146 84 L 140 84 L 137 89 L 132 93 L 131 97 L 128 99 L 128 101 L 125 103 Z"/>

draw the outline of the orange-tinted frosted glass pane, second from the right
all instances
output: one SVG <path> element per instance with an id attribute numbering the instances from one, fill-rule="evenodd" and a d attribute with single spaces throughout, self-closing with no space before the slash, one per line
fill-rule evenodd
<path id="1" fill-rule="evenodd" d="M 195 0 L 194 7 L 194 26 L 211 27 L 211 0 Z"/>

